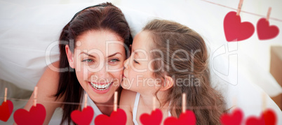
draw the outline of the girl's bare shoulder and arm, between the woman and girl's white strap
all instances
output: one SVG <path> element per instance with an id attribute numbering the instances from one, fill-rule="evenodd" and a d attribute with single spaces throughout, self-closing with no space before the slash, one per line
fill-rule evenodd
<path id="1" fill-rule="evenodd" d="M 126 112 L 126 125 L 133 124 L 133 105 L 136 93 L 123 89 L 121 91 L 121 101 L 119 102 L 119 107 Z"/>

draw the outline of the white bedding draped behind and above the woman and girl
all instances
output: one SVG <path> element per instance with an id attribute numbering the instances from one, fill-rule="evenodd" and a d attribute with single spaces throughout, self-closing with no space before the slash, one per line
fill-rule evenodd
<path id="1" fill-rule="evenodd" d="M 57 43 L 62 27 L 77 11 L 101 2 L 30 1 L 29 4 L 22 1 L 0 1 L 0 79 L 12 82 L 22 89 L 32 90 L 46 66 L 58 61 L 58 46 L 52 47 L 52 43 Z M 213 0 L 213 2 L 232 8 L 238 6 L 237 1 L 229 3 Z M 271 6 L 271 17 L 282 19 L 282 10 L 278 7 L 282 5 L 281 2 L 280 4 L 274 0 L 267 3 L 262 0 L 244 2 L 243 10 L 266 15 L 268 7 Z M 255 32 L 245 41 L 227 43 L 223 19 L 231 9 L 205 1 L 171 3 L 121 0 L 113 3 L 125 13 L 133 35 L 154 17 L 175 20 L 199 32 L 210 48 L 213 85 L 224 93 L 229 107 L 233 105 L 233 98 L 236 98 L 236 105 L 243 109 L 245 117 L 260 115 L 262 93 L 266 92 L 269 96 L 282 93 L 281 87 L 269 73 L 269 47 L 282 45 L 281 34 L 269 41 L 259 41 Z M 259 19 L 257 15 L 241 13 L 242 21 L 256 25 Z M 270 23 L 282 29 L 282 22 L 270 20 Z M 46 51 L 50 47 L 51 52 Z M 2 89 L 4 88 L 0 88 Z M 269 96 L 267 107 L 276 111 L 278 124 L 282 124 L 281 110 Z"/>

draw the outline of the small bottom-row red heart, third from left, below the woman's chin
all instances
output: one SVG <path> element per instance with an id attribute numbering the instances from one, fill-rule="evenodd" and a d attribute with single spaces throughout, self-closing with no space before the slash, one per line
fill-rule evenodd
<path id="1" fill-rule="evenodd" d="M 72 111 L 71 118 L 74 123 L 79 125 L 88 125 L 91 123 L 94 115 L 94 110 L 90 106 L 83 108 L 82 112 L 79 110 Z"/>

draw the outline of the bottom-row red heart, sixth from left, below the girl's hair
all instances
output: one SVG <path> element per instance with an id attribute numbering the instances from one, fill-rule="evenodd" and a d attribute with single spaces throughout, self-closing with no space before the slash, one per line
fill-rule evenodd
<path id="1" fill-rule="evenodd" d="M 180 117 L 177 119 L 176 117 L 168 117 L 163 123 L 164 125 L 170 124 L 196 124 L 196 117 L 194 112 L 190 110 L 186 110 L 185 113 L 182 113 Z"/>

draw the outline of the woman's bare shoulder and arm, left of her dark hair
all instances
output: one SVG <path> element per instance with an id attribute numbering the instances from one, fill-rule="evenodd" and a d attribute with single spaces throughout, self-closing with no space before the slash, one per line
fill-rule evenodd
<path id="1" fill-rule="evenodd" d="M 56 61 L 53 63 L 53 66 L 56 68 L 59 67 L 59 61 Z M 57 71 L 51 70 L 51 68 L 47 68 L 46 71 L 41 76 L 39 82 L 36 84 L 38 87 L 37 89 L 37 103 L 41 103 L 44 105 L 46 109 L 46 118 L 44 121 L 44 124 L 48 124 L 51 120 L 51 117 L 53 113 L 55 112 L 56 108 L 60 108 L 62 106 L 62 103 L 54 103 L 54 102 L 62 102 L 63 97 L 58 98 L 58 100 L 55 100 L 55 95 L 58 90 L 58 84 L 59 84 L 59 73 Z M 32 96 L 29 98 L 29 101 L 27 102 L 27 105 L 25 105 L 25 110 L 29 110 L 33 105 L 33 98 L 34 93 L 32 93 Z"/>

